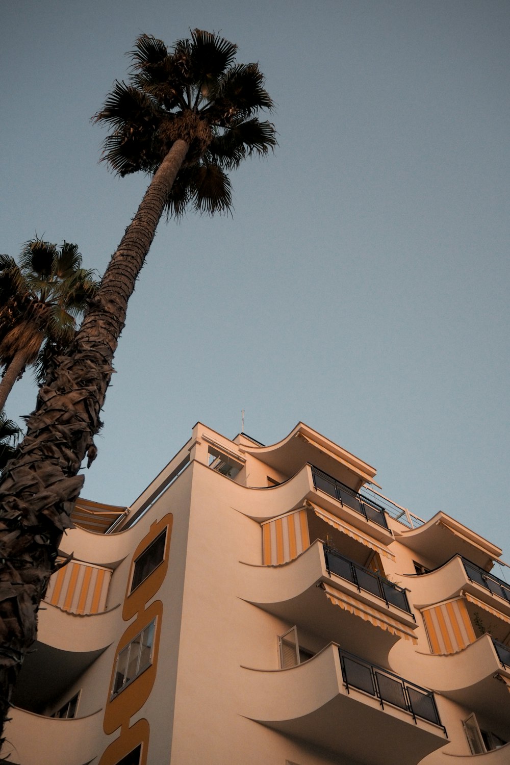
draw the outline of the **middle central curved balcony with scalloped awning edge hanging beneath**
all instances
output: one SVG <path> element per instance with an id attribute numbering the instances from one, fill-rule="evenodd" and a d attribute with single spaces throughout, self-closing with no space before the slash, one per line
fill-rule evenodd
<path id="1" fill-rule="evenodd" d="M 278 566 L 245 564 L 239 597 L 327 641 L 334 636 L 347 650 L 356 651 L 360 643 L 369 641 L 371 658 L 386 663 L 397 640 L 413 640 L 413 615 L 381 594 L 364 589 L 365 585 L 372 590 L 381 587 L 382 578 L 342 556 L 343 566 L 337 567 L 332 551 L 328 553 L 329 573 L 324 547 L 317 540 L 297 558 Z M 360 586 L 362 575 L 369 581 L 363 580 Z"/>

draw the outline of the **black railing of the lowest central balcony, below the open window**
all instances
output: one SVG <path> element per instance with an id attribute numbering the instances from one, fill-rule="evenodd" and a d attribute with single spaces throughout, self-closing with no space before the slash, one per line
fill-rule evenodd
<path id="1" fill-rule="evenodd" d="M 444 735 L 447 735 L 437 711 L 433 692 L 421 688 L 420 685 L 414 685 L 382 667 L 369 664 L 358 656 L 353 656 L 352 653 L 339 649 L 339 654 L 343 680 L 348 693 L 349 687 L 358 688 L 378 698 L 383 709 L 385 704 L 404 709 L 411 713 L 415 723 L 416 718 L 427 720 L 440 725 Z"/>

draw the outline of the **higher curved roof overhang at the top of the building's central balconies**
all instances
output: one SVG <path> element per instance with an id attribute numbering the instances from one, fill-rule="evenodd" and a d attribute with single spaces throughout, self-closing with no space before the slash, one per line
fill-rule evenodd
<path id="1" fill-rule="evenodd" d="M 301 467 L 310 463 L 355 491 L 364 483 L 374 483 L 375 467 L 304 425 L 304 422 L 298 422 L 287 438 L 277 444 L 242 444 L 239 448 L 287 477 L 295 475 Z"/>

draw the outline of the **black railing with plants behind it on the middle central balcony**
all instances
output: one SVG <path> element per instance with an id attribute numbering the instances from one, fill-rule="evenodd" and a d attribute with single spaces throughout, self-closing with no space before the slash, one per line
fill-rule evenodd
<path id="1" fill-rule="evenodd" d="M 391 603 L 391 605 L 407 611 L 414 619 L 414 614 L 411 613 L 408 596 L 405 594 L 404 588 L 376 574 L 375 571 L 370 571 L 369 568 L 360 566 L 349 558 L 345 558 L 328 545 L 323 545 L 323 548 L 328 574 L 336 574 L 352 582 L 352 584 L 356 584 L 359 590 L 365 590 L 371 592 L 376 597 L 381 597 L 388 607 Z"/>

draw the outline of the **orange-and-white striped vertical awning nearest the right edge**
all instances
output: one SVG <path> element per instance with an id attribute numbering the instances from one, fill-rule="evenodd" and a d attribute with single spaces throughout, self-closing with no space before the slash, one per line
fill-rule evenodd
<path id="1" fill-rule="evenodd" d="M 457 653 L 476 640 L 462 597 L 422 608 L 421 614 L 432 653 Z"/>

